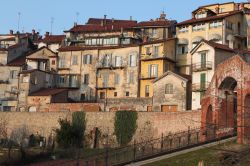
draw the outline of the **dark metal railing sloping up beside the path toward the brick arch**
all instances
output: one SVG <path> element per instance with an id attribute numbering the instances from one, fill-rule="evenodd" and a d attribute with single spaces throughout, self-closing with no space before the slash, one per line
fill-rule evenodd
<path id="1" fill-rule="evenodd" d="M 158 139 L 140 142 L 116 149 L 106 149 L 105 152 L 83 158 L 84 165 L 125 165 L 131 162 L 141 161 L 164 154 L 181 151 L 209 142 L 232 137 L 235 134 L 230 132 L 221 137 L 216 135 L 216 128 L 212 132 L 203 132 L 200 129 L 193 129 L 184 132 L 169 134 Z M 203 140 L 202 135 L 208 139 Z"/>

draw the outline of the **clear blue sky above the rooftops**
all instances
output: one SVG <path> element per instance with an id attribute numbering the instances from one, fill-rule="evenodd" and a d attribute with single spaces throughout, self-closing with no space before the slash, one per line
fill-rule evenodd
<path id="1" fill-rule="evenodd" d="M 46 31 L 63 34 L 74 22 L 84 24 L 88 18 L 129 19 L 147 21 L 165 11 L 168 19 L 178 22 L 191 18 L 191 12 L 202 5 L 231 0 L 3 0 L 0 10 L 0 34 Z M 247 2 L 235 0 L 235 2 Z M 52 25 L 52 28 L 51 28 Z"/>

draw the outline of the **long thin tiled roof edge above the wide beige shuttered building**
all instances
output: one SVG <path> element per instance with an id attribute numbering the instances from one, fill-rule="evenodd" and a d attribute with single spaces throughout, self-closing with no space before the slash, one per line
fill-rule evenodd
<path id="1" fill-rule="evenodd" d="M 118 48 L 128 48 L 128 47 L 138 47 L 138 45 L 129 44 L 122 46 L 99 46 L 99 47 L 65 46 L 59 48 L 58 51 L 66 52 L 66 51 L 84 51 L 84 50 L 105 50 L 105 49 L 118 49 Z"/>

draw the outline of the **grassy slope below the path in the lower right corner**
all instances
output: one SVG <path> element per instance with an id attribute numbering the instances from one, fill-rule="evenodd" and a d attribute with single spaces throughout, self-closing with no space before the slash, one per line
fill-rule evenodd
<path id="1" fill-rule="evenodd" d="M 238 145 L 235 142 L 229 142 L 217 145 L 211 148 L 200 149 L 194 152 L 178 155 L 161 161 L 157 161 L 145 166 L 198 166 L 200 161 L 204 162 L 204 166 L 220 166 L 226 152 L 218 149 L 242 150 L 246 148 L 244 145 Z M 249 148 L 249 146 L 248 146 Z M 250 158 L 250 154 L 246 159 Z M 248 163 L 249 161 L 241 161 Z"/>

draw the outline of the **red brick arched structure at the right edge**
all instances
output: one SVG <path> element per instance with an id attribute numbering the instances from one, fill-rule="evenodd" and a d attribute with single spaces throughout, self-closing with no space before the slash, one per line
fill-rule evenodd
<path id="1" fill-rule="evenodd" d="M 207 122 L 211 114 L 216 126 L 216 137 L 237 131 L 237 142 L 247 143 L 250 138 L 250 64 L 236 55 L 216 68 L 212 81 L 202 99 L 202 139 L 208 139 Z M 208 116 L 208 117 L 207 117 Z M 249 127 L 248 127 L 249 126 Z"/>

